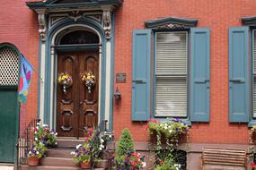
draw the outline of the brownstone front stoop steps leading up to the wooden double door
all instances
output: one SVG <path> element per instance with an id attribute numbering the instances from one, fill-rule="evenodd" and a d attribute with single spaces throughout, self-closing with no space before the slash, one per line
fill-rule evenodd
<path id="1" fill-rule="evenodd" d="M 75 150 L 75 146 L 83 143 L 84 140 L 75 140 L 74 138 L 61 138 L 57 140 L 57 148 L 49 149 L 47 157 L 40 159 L 40 166 L 22 165 L 19 170 L 77 170 L 81 169 L 80 165 L 75 163 L 70 152 Z M 16 167 L 14 168 L 17 169 Z M 102 160 L 95 163 L 95 170 L 104 170 L 109 168 L 108 157 L 103 154 Z"/>

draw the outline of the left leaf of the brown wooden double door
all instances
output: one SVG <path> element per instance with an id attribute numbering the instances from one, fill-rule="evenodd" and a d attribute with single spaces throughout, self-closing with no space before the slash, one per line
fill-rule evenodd
<path id="1" fill-rule="evenodd" d="M 78 54 L 61 53 L 57 57 L 57 73 L 67 72 L 72 76 L 73 84 L 63 92 L 61 84 L 57 84 L 57 132 L 59 136 L 73 137 L 78 135 L 77 113 L 77 78 Z"/>

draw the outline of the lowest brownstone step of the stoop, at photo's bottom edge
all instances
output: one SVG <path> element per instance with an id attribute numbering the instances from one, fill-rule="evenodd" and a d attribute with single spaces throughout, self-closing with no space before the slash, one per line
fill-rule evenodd
<path id="1" fill-rule="evenodd" d="M 22 165 L 19 170 L 80 170 L 80 167 L 71 166 L 27 166 Z M 94 170 L 104 170 L 104 168 L 93 168 Z M 17 170 L 14 167 L 14 170 Z"/>

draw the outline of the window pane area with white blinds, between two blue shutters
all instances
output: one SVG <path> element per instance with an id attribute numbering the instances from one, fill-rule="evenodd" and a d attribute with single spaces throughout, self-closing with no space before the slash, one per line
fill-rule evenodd
<path id="1" fill-rule="evenodd" d="M 155 115 L 187 116 L 188 32 L 155 33 Z"/>

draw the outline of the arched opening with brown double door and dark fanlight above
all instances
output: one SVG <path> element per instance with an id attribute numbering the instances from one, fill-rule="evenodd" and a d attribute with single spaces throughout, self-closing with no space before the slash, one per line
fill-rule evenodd
<path id="1" fill-rule="evenodd" d="M 58 136 L 83 137 L 99 120 L 100 38 L 88 28 L 61 31 L 57 51 Z M 61 75 L 69 76 L 69 85 Z M 72 81 L 71 81 L 72 80 Z"/>

